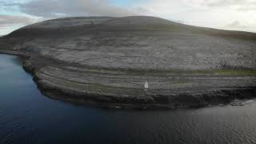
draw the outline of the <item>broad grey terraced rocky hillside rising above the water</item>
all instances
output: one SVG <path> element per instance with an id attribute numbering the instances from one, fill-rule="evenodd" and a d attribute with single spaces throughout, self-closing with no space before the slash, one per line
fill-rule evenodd
<path id="1" fill-rule="evenodd" d="M 154 17 L 60 18 L 0 38 L 0 51 L 29 55 L 24 68 L 54 98 L 194 106 L 255 96 L 254 33 Z"/>

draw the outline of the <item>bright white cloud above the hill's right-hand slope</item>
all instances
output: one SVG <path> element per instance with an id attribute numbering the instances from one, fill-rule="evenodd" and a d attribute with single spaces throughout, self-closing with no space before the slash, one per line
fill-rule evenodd
<path id="1" fill-rule="evenodd" d="M 147 15 L 189 25 L 229 29 L 230 22 L 239 22 L 243 26 L 239 30 L 256 32 L 256 9 L 250 10 L 254 6 L 255 0 L 152 0 L 142 8 L 149 11 Z"/>

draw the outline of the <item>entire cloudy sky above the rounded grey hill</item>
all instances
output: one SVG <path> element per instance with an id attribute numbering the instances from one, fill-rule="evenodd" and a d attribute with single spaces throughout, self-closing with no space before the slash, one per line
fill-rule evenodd
<path id="1" fill-rule="evenodd" d="M 256 0 L 0 0 L 0 35 L 50 18 L 130 15 L 256 32 Z"/>

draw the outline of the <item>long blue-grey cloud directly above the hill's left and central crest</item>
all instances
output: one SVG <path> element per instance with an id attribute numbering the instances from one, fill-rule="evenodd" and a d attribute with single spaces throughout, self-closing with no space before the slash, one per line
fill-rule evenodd
<path id="1" fill-rule="evenodd" d="M 134 15 L 134 10 L 128 10 L 111 5 L 109 0 L 35 0 L 26 3 L 15 3 L 13 6 L 25 14 L 43 18 L 60 16 L 127 16 Z"/>

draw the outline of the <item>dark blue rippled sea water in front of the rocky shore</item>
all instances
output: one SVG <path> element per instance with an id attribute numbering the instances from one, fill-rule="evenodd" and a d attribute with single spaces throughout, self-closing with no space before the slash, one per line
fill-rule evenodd
<path id="1" fill-rule="evenodd" d="M 0 54 L 0 143 L 256 143 L 256 102 L 178 110 L 76 106 L 43 96 Z"/>

